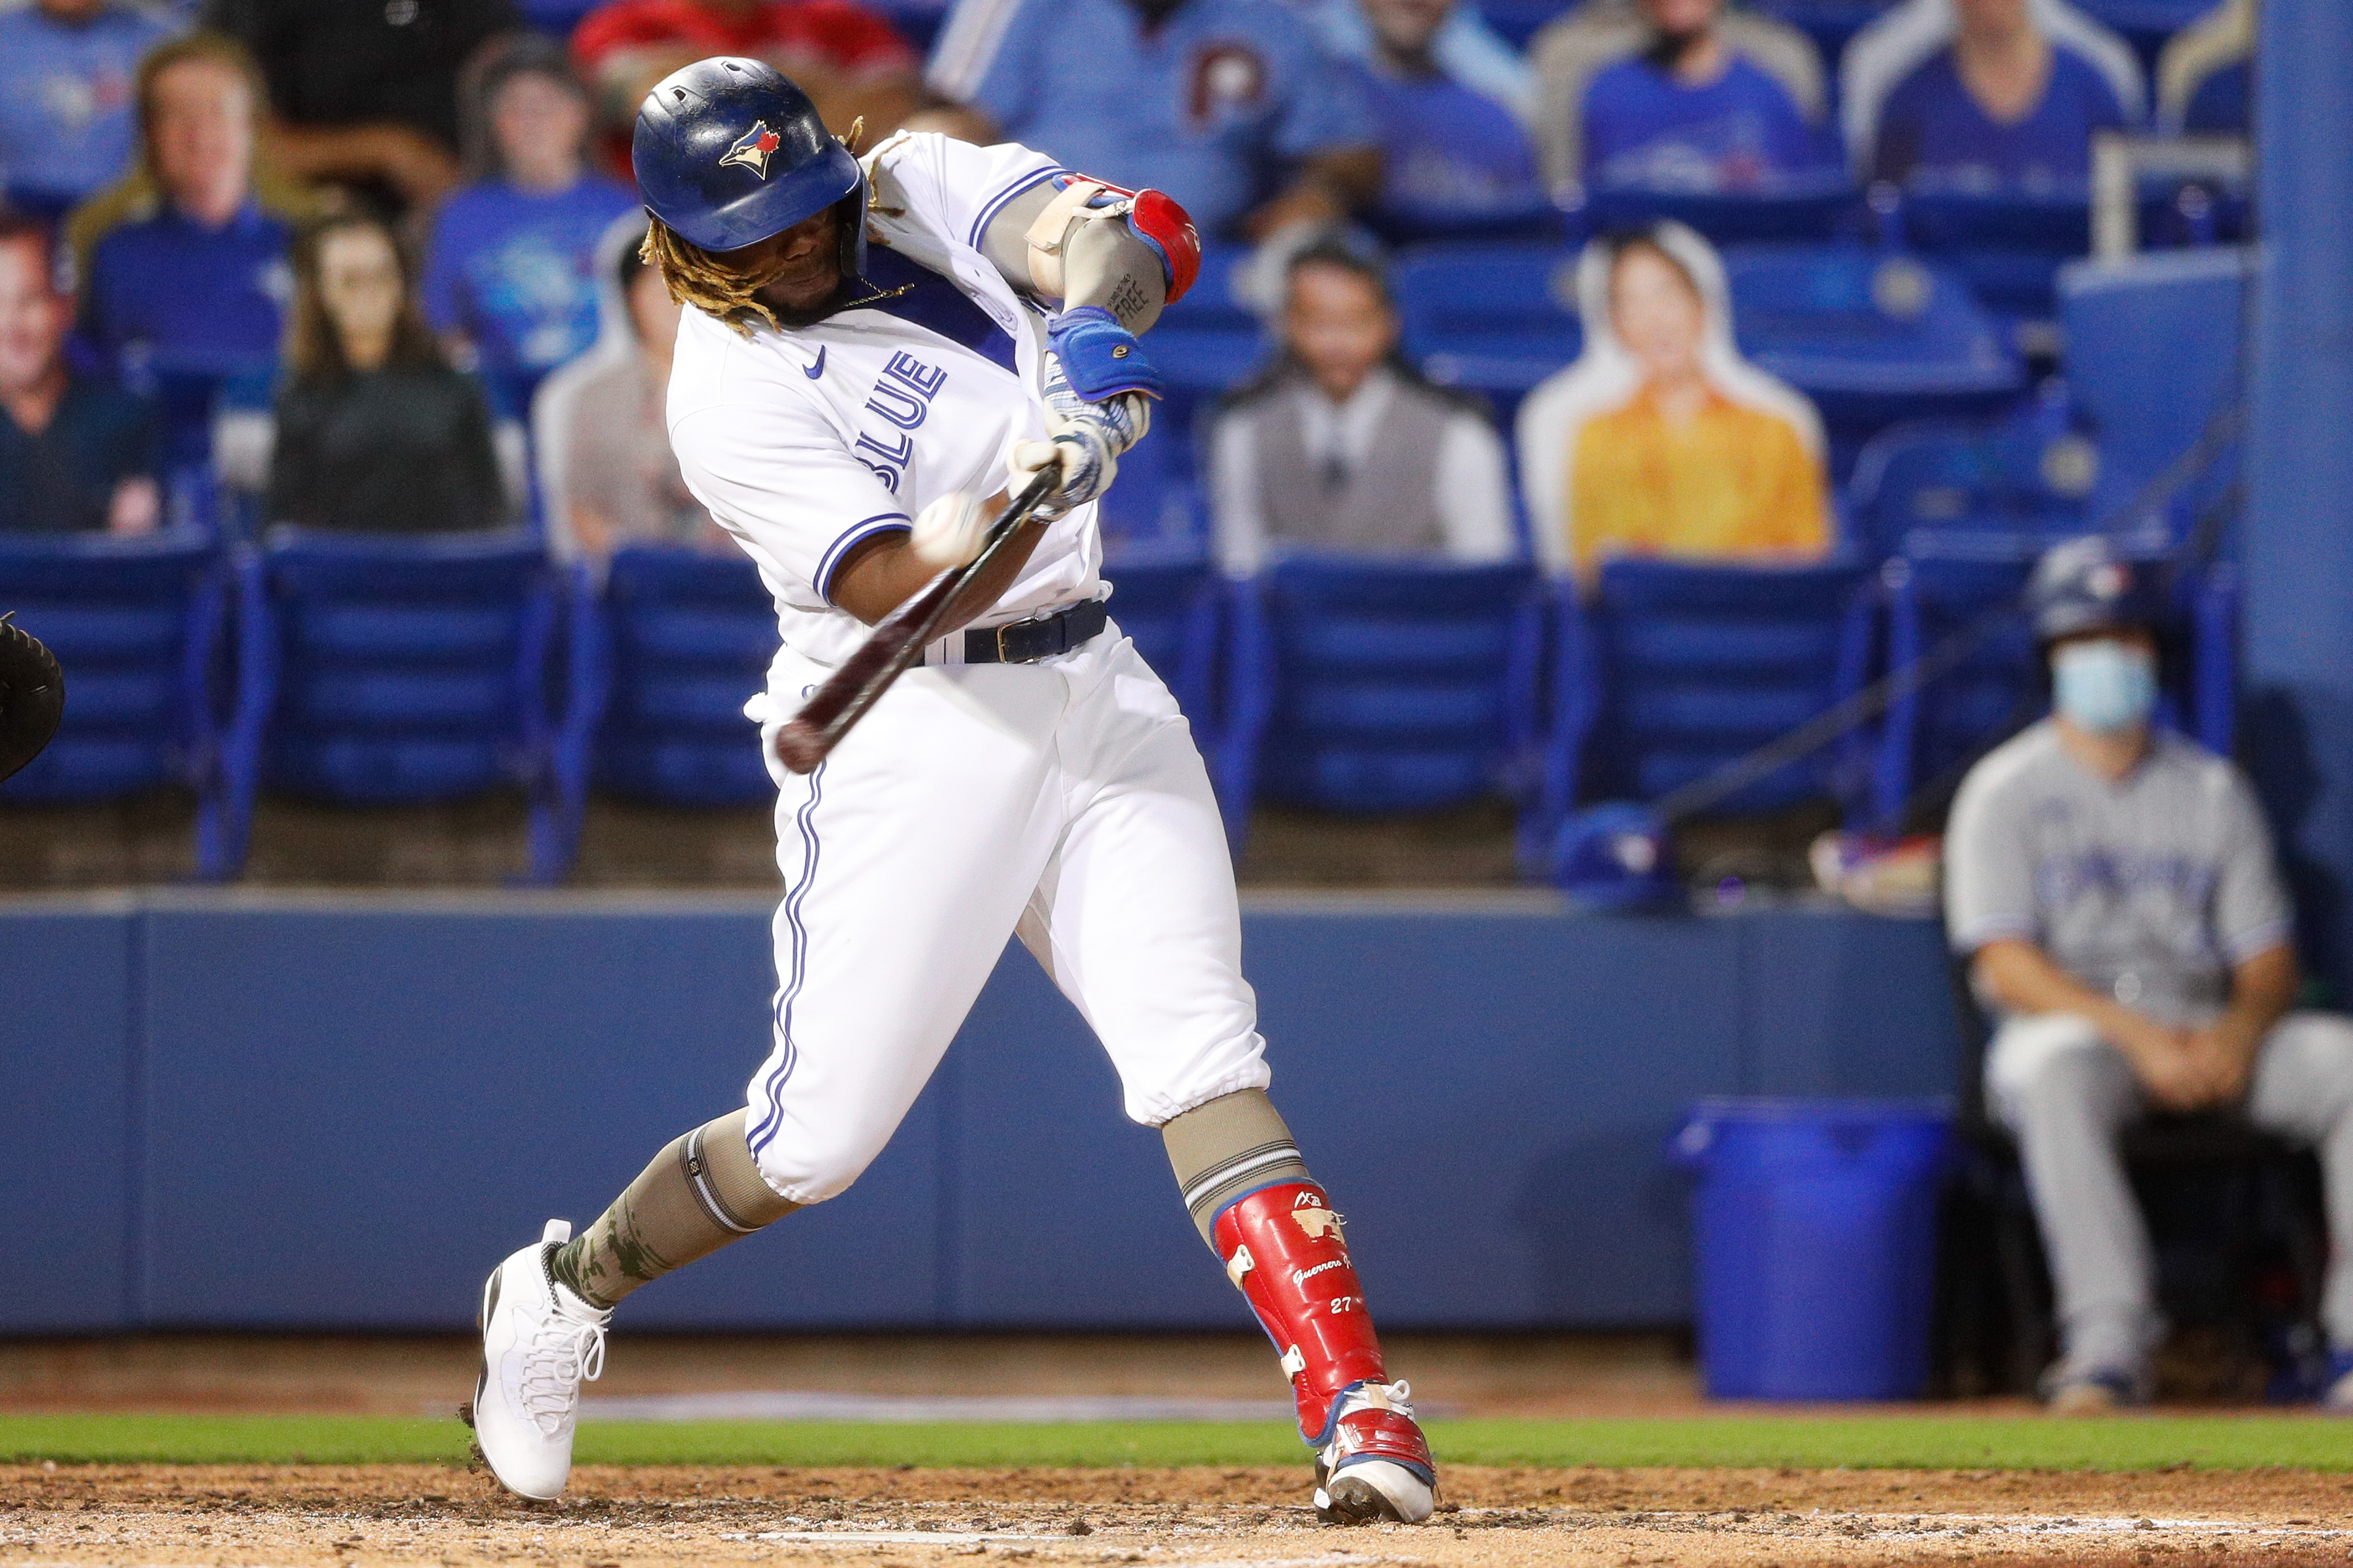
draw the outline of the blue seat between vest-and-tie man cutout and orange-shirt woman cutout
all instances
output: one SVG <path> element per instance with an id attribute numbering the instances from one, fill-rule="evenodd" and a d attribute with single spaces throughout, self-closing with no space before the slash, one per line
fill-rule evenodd
<path id="1" fill-rule="evenodd" d="M 1405 355 L 1442 386 L 1511 402 L 1584 350 L 1574 249 L 1431 244 L 1407 252 L 1391 282 Z"/>

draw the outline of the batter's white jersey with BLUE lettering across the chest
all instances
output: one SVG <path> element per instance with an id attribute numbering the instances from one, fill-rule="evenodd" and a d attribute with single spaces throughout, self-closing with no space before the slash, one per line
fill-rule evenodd
<path id="1" fill-rule="evenodd" d="M 866 169 L 878 249 L 953 280 L 976 315 L 932 280 L 816 327 L 755 327 L 748 339 L 687 310 L 671 369 L 671 447 L 687 489 L 760 564 L 786 646 L 821 663 L 840 663 L 866 637 L 826 597 L 849 548 L 906 529 L 939 496 L 1002 489 L 1012 444 L 1045 435 L 1045 315 L 979 242 L 1009 200 L 1061 167 L 1021 146 L 899 134 Z M 896 284 L 899 256 L 878 254 L 868 273 Z M 981 322 L 995 334 L 972 331 Z M 1101 597 L 1099 567 L 1089 503 L 1047 529 L 976 625 Z"/>

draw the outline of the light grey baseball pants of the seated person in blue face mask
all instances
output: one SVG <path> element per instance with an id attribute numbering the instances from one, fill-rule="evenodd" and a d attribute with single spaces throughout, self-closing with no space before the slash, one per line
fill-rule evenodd
<path id="1" fill-rule="evenodd" d="M 2059 1295 L 2064 1366 L 2132 1371 L 2165 1331 L 2148 1227 L 2115 1135 L 2148 1100 L 2125 1053 L 2089 1018 L 2012 1018 L 1986 1053 L 1986 1100 L 2017 1140 Z M 2320 1298 L 2334 1349 L 2353 1349 L 2353 1023 L 2289 1013 L 2254 1058 L 2247 1119 L 2320 1152 L 2329 1272 Z"/>

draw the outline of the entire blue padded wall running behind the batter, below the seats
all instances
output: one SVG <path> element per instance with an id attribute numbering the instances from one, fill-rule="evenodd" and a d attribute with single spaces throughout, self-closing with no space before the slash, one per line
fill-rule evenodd
<path id="1" fill-rule="evenodd" d="M 174 893 L 0 907 L 0 1333 L 459 1328 L 741 1103 L 765 900 Z M 1572 917 L 1544 896 L 1259 903 L 1275 1098 L 1395 1326 L 1675 1324 L 1715 1093 L 1948 1093 L 1937 931 Z M 633 1328 L 1245 1328 L 1075 1011 L 1009 947 L 845 1197 L 631 1302 Z"/>

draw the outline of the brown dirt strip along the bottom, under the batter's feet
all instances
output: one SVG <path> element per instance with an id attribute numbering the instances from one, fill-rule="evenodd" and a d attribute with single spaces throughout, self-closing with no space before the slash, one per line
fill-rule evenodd
<path id="1" fill-rule="evenodd" d="M 1299 1469 L 584 1469 L 555 1507 L 442 1467 L 0 1467 L 0 1563 L 1035 1568 L 2341 1563 L 2353 1479 L 1471 1469 L 1431 1526 L 1327 1530 Z"/>

